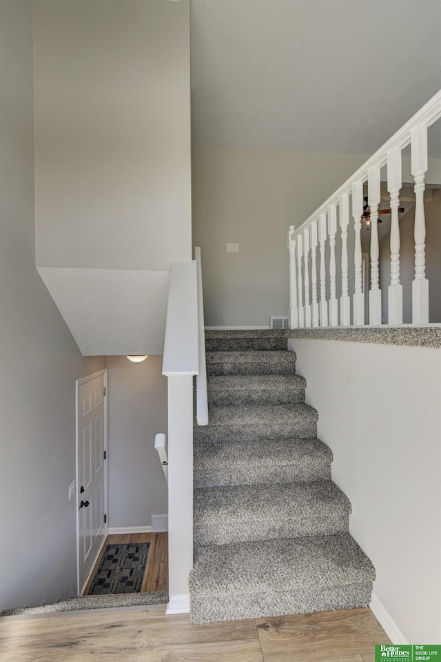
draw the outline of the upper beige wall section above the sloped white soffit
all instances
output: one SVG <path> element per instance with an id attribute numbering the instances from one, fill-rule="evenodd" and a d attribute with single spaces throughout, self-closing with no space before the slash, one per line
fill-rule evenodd
<path id="1" fill-rule="evenodd" d="M 37 265 L 191 251 L 189 0 L 34 0 Z"/>

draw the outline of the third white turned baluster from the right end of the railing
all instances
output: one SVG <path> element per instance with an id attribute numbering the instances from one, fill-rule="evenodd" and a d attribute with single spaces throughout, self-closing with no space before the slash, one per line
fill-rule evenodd
<path id="1" fill-rule="evenodd" d="M 378 205 L 381 200 L 380 192 L 380 166 L 374 165 L 367 173 L 367 199 L 371 208 L 371 289 L 369 290 L 369 324 L 381 324 L 381 290 L 380 270 L 378 259 L 380 248 L 378 245 Z"/>

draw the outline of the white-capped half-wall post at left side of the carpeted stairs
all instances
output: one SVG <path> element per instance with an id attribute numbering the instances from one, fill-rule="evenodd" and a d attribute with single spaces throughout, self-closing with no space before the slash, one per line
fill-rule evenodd
<path id="1" fill-rule="evenodd" d="M 193 567 L 193 377 L 199 372 L 196 262 L 170 269 L 163 374 L 168 408 L 167 614 L 189 612 Z"/>

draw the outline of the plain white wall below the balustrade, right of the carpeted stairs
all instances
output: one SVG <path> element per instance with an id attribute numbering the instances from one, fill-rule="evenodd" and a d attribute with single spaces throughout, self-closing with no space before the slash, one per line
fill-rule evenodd
<path id="1" fill-rule="evenodd" d="M 376 599 L 398 639 L 441 641 L 441 350 L 289 345 L 351 500 L 351 534 L 376 568 Z"/>

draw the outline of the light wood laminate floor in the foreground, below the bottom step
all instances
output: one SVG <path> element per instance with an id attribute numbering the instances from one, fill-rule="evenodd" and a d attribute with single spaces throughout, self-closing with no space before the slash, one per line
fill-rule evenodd
<path id="1" fill-rule="evenodd" d="M 374 662 L 369 609 L 192 625 L 187 615 L 70 612 L 0 619 L 1 662 Z"/>

